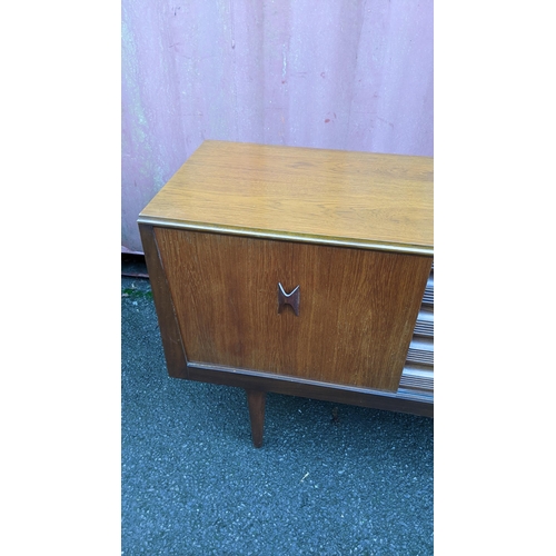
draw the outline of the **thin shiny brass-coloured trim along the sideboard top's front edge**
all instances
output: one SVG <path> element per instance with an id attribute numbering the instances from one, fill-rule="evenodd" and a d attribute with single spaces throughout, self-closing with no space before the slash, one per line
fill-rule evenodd
<path id="1" fill-rule="evenodd" d="M 297 241 L 301 244 L 330 245 L 335 247 L 357 247 L 361 249 L 373 249 L 377 251 L 398 252 L 405 255 L 424 255 L 434 257 L 434 247 L 389 244 L 370 239 L 339 238 L 328 236 L 316 236 L 311 234 L 292 234 L 288 231 L 259 230 L 256 228 L 238 228 L 234 226 L 220 226 L 201 222 L 185 222 L 182 220 L 159 219 L 139 215 L 138 224 L 159 226 L 162 228 L 178 228 L 192 231 L 208 231 L 214 234 L 227 234 L 231 236 L 244 236 L 262 239 L 276 239 L 281 241 Z"/>

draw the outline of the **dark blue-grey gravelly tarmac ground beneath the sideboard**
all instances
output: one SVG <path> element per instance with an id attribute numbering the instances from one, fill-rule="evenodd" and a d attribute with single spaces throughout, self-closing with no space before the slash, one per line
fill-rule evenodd
<path id="1" fill-rule="evenodd" d="M 121 326 L 123 555 L 434 553 L 433 419 L 269 394 L 256 449 L 244 390 L 168 377 L 148 280 Z"/>

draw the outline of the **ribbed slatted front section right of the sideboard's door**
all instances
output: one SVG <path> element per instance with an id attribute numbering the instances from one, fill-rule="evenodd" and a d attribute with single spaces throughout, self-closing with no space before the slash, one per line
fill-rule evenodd
<path id="1" fill-rule="evenodd" d="M 423 304 L 407 353 L 406 365 L 398 393 L 433 398 L 434 395 L 434 318 L 435 278 L 434 265 L 423 296 Z"/>

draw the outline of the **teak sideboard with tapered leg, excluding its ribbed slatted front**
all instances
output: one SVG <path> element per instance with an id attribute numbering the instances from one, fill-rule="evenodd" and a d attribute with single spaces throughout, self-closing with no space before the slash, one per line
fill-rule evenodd
<path id="1" fill-rule="evenodd" d="M 138 219 L 171 377 L 433 416 L 433 158 L 205 141 Z"/>

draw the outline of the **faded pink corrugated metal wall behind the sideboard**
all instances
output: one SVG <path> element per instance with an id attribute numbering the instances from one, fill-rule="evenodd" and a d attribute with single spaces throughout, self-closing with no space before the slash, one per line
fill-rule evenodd
<path id="1" fill-rule="evenodd" d="M 433 0 L 122 0 L 122 250 L 203 139 L 433 156 Z"/>

